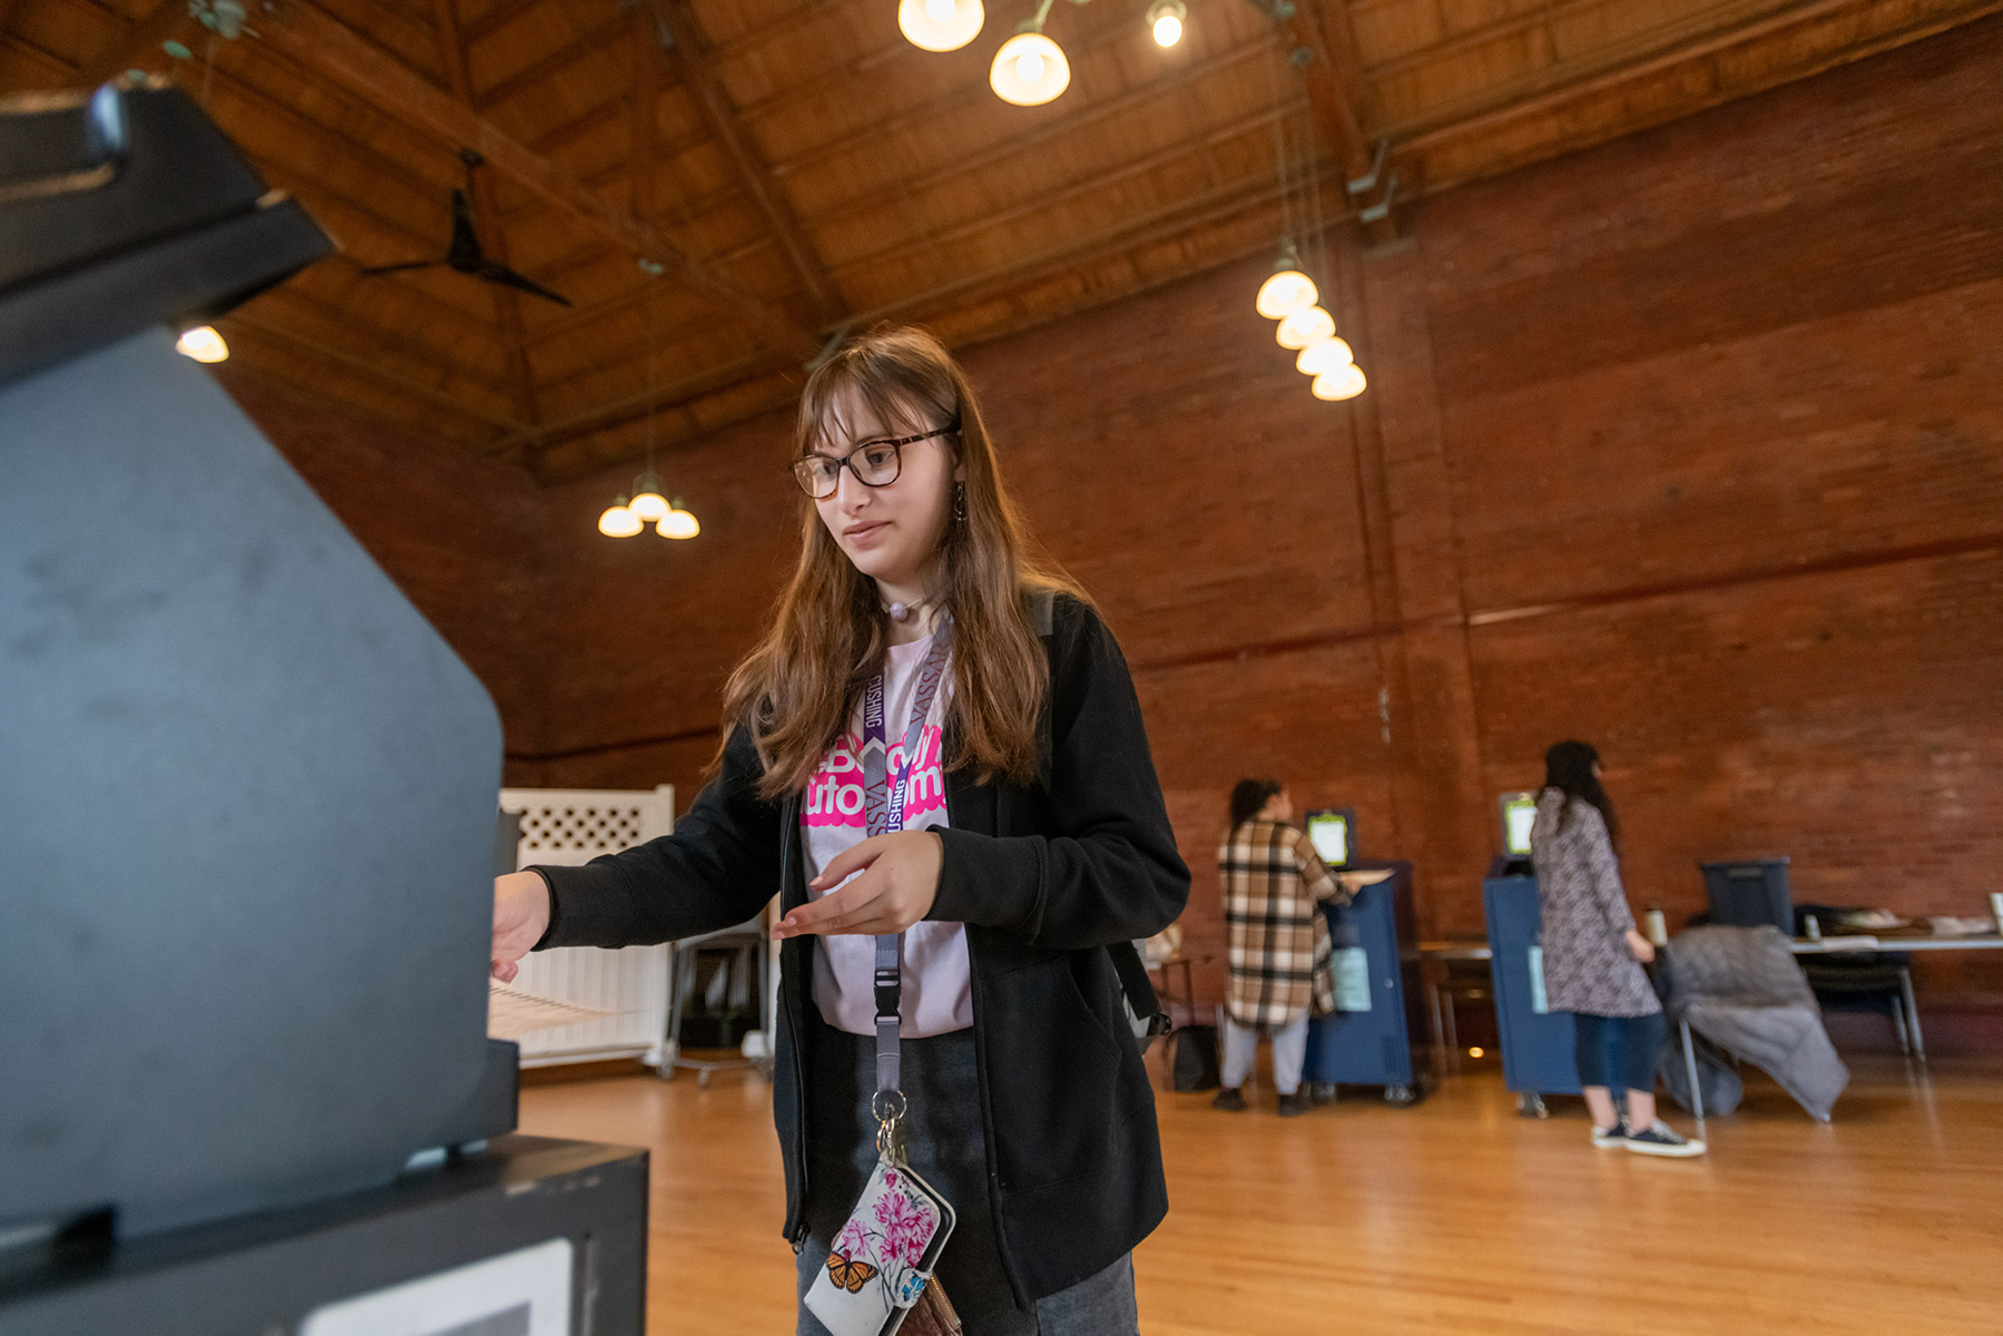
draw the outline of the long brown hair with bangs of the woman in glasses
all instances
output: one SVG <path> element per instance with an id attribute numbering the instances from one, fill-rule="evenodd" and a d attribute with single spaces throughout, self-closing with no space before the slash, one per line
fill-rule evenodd
<path id="1" fill-rule="evenodd" d="M 879 326 L 845 345 L 807 377 L 797 455 L 813 453 L 837 431 L 835 407 L 845 399 L 867 405 L 885 431 L 957 423 L 945 443 L 965 481 L 939 543 L 939 587 L 931 591 L 939 611 L 953 617 L 945 767 L 973 767 L 979 783 L 997 775 L 1030 779 L 1050 661 L 1024 595 L 1084 593 L 1030 541 L 1002 485 L 973 387 L 945 345 L 911 326 Z M 807 787 L 885 649 L 875 581 L 843 555 L 805 493 L 799 527 L 799 565 L 765 639 L 723 689 L 725 743 L 729 729 L 751 729 L 765 763 L 759 793 L 771 801 Z M 717 755 L 721 761 L 721 749 Z"/>

